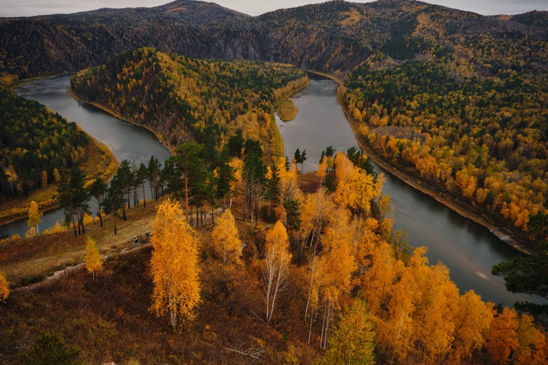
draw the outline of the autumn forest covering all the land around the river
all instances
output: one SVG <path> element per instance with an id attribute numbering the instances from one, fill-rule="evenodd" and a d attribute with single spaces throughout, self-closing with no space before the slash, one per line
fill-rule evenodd
<path id="1" fill-rule="evenodd" d="M 0 218 L 29 227 L 0 236 L 0 362 L 546 364 L 548 305 L 460 290 L 372 161 L 508 236 L 527 254 L 493 275 L 545 303 L 547 24 L 404 0 L 0 18 Z M 307 71 L 339 82 L 362 149 L 303 173 L 276 114 Z M 64 73 L 171 157 L 118 167 L 16 94 Z M 64 219 L 40 230 L 45 207 Z"/>

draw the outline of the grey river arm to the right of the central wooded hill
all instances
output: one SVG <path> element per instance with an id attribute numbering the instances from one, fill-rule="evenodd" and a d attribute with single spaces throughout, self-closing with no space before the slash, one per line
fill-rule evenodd
<path id="1" fill-rule="evenodd" d="M 299 108 L 295 119 L 284 123 L 276 116 L 285 154 L 292 158 L 297 148 L 306 150 L 305 173 L 317 170 L 325 147 L 332 145 L 334 149 L 346 150 L 358 146 L 336 99 L 338 84 L 318 75 L 309 77 L 310 86 L 291 98 Z M 540 297 L 508 292 L 503 279 L 491 274 L 493 265 L 521 255 L 519 251 L 377 164 L 375 169 L 386 177 L 383 193 L 392 198 L 395 229 L 407 231 L 412 247 L 427 247 L 430 263 L 445 264 L 461 293 L 473 289 L 484 301 L 506 306 L 525 300 L 546 303 Z"/>

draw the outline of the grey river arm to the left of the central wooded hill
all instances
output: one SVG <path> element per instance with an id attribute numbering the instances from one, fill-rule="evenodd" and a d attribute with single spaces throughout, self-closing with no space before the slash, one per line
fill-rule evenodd
<path id="1" fill-rule="evenodd" d="M 95 108 L 92 105 L 81 103 L 75 100 L 68 92 L 71 75 L 53 77 L 34 81 L 25 86 L 16 88 L 14 91 L 20 97 L 36 100 L 47 106 L 53 112 L 57 112 L 66 118 L 67 121 L 76 122 L 84 131 L 95 137 L 99 142 L 107 145 L 116 156 L 116 160 L 129 160 L 140 166 L 141 162 L 148 164 L 151 155 L 158 158 L 162 165 L 171 155 L 164 145 L 154 134 L 137 125 L 132 125 L 119 118 L 111 116 Z M 150 191 L 145 190 L 147 199 L 151 199 Z M 141 199 L 142 197 L 140 197 Z M 90 202 L 92 212 L 97 212 L 97 203 Z M 55 209 L 46 212 L 42 216 L 40 230 L 52 227 L 55 221 L 61 221 L 63 210 Z M 3 234 L 13 236 L 25 235 L 27 221 L 22 219 L 2 225 L 0 231 Z"/>

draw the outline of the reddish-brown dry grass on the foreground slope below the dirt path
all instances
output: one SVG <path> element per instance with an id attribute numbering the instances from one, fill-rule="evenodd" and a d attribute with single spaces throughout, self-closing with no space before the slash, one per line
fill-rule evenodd
<path id="1" fill-rule="evenodd" d="M 147 212 L 133 211 L 149 216 Z M 128 221 L 121 230 L 133 229 L 138 219 L 134 221 L 136 223 L 131 224 Z M 245 234 L 253 231 L 249 223 L 238 220 L 238 226 L 247 237 L 249 247 L 253 247 L 253 235 Z M 190 327 L 174 332 L 167 318 L 156 318 L 149 312 L 151 249 L 142 247 L 115 255 L 105 264 L 97 281 L 81 270 L 58 280 L 45 281 L 32 290 L 12 292 L 7 303 L 0 304 L 0 338 L 3 339 L 0 362 L 21 363 L 21 353 L 32 344 L 38 331 L 56 329 L 68 344 L 77 344 L 82 349 L 80 360 L 90 364 L 127 364 L 135 359 L 140 364 L 282 364 L 290 343 L 295 344 L 301 363 L 310 363 L 319 353 L 303 342 L 308 332 L 300 316 L 290 320 L 285 318 L 292 316 L 284 315 L 270 327 L 262 320 L 262 292 L 257 267 L 253 264 L 256 256 L 251 253 L 251 263 L 245 266 L 223 265 L 214 260 L 208 255 L 210 228 L 198 231 L 202 242 L 202 302 L 197 319 Z M 130 234 L 119 236 L 125 237 L 122 244 L 129 244 Z M 97 234 L 96 237 L 103 249 L 116 245 L 114 241 L 106 242 L 112 235 Z M 82 244 L 81 240 L 74 242 L 77 247 Z M 64 251 L 61 247 L 58 243 L 51 250 Z M 297 289 L 291 290 L 287 300 L 296 295 Z M 294 310 L 286 299 L 281 299 L 280 309 Z M 256 347 L 264 353 L 260 360 L 253 360 L 229 350 L 238 347 Z"/>

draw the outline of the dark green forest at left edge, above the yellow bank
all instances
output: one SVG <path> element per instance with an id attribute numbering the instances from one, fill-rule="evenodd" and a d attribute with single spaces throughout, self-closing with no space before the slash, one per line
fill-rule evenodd
<path id="1" fill-rule="evenodd" d="M 0 88 L 0 202 L 27 195 L 85 160 L 88 137 L 36 101 Z"/>

